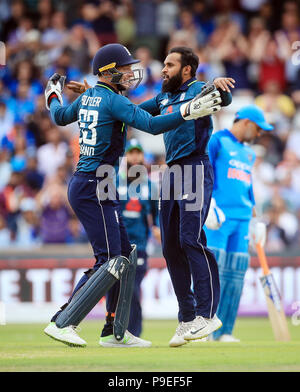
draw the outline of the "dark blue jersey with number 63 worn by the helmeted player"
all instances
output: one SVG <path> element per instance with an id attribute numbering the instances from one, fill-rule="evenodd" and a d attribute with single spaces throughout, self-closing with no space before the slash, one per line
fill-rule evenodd
<path id="1" fill-rule="evenodd" d="M 51 117 L 58 125 L 78 121 L 80 156 L 77 171 L 95 172 L 102 164 L 118 167 L 124 154 L 127 125 L 152 135 L 176 129 L 186 121 L 180 112 L 152 117 L 106 83 L 98 82 L 72 104 L 50 103 Z"/>

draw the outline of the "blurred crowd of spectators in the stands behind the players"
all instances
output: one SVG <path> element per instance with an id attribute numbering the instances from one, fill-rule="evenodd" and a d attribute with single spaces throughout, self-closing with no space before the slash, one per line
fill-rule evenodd
<path id="1" fill-rule="evenodd" d="M 253 146 L 253 180 L 268 225 L 266 249 L 299 248 L 299 13 L 292 0 L 2 0 L 0 247 L 87 242 L 66 192 L 78 159 L 78 126 L 55 126 L 43 92 L 54 72 L 93 85 L 94 53 L 120 42 L 144 68 L 143 83 L 130 94 L 135 103 L 160 91 L 168 49 L 188 46 L 200 59 L 199 80 L 236 80 L 232 105 L 214 117 L 215 131 L 230 128 L 243 105 L 265 111 L 275 130 Z M 74 98 L 65 89 L 64 102 Z M 161 138 L 135 136 L 148 165 L 164 162 Z"/>

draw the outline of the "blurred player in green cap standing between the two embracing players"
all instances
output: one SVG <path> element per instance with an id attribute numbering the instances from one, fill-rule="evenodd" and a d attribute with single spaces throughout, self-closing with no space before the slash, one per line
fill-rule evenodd
<path id="1" fill-rule="evenodd" d="M 126 167 L 119 172 L 118 193 L 124 225 L 130 242 L 137 245 L 138 257 L 128 331 L 135 336 L 140 336 L 143 319 L 141 283 L 147 272 L 147 243 L 151 232 L 160 242 L 158 189 L 149 179 L 144 166 L 143 147 L 138 140 L 129 140 L 125 152 Z M 139 168 L 143 170 L 139 171 Z M 122 184 L 123 179 L 127 179 L 127 186 Z M 131 185 L 134 185 L 132 190 Z"/>

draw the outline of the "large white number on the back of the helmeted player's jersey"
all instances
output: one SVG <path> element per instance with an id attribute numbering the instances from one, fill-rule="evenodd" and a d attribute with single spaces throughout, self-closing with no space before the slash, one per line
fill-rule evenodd
<path id="1" fill-rule="evenodd" d="M 79 144 L 88 144 L 94 146 L 97 143 L 98 111 L 97 110 L 79 110 Z"/>

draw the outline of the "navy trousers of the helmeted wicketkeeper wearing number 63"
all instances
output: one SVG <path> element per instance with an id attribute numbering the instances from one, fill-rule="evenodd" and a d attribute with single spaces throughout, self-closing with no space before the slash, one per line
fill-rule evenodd
<path id="1" fill-rule="evenodd" d="M 69 301 L 87 282 L 91 274 L 107 260 L 119 255 L 128 257 L 131 252 L 119 203 L 117 200 L 100 200 L 98 186 L 100 181 L 101 179 L 92 173 L 76 172 L 69 182 L 70 205 L 86 231 L 96 258 L 94 266 L 86 271 L 77 283 Z M 119 282 L 110 289 L 106 297 L 108 312 L 115 312 L 118 295 Z M 55 314 L 52 321 L 55 321 L 58 314 L 59 312 Z"/>

